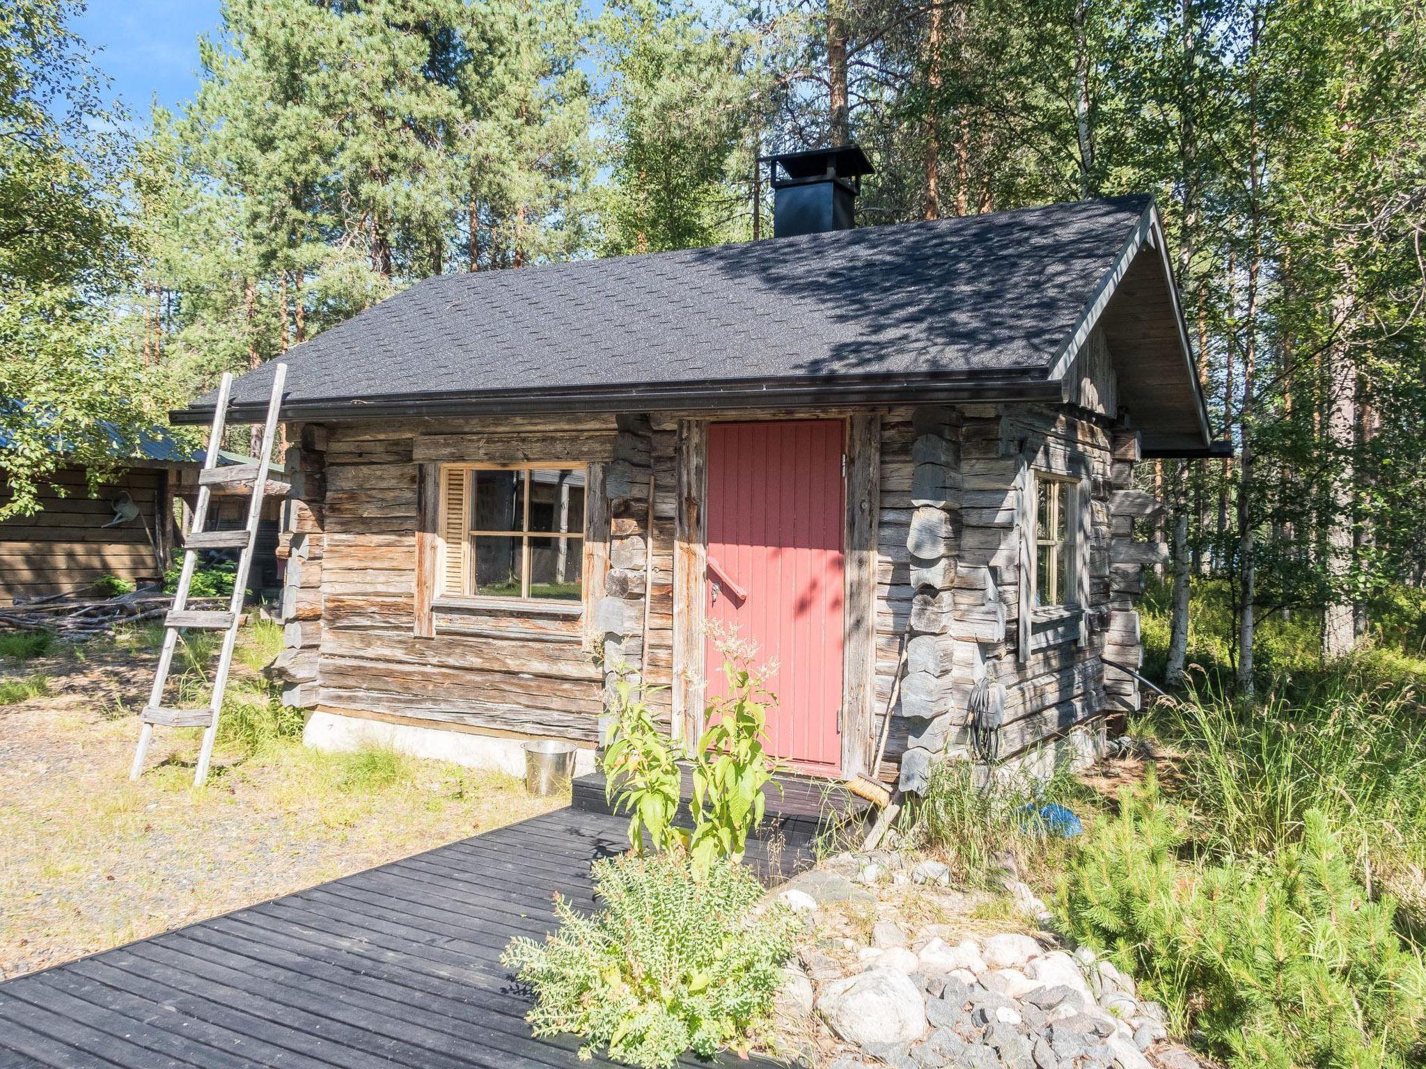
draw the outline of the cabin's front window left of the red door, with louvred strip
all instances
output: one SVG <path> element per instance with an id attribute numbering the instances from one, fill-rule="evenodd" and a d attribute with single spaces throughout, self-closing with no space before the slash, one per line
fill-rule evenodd
<path id="1" fill-rule="evenodd" d="M 441 593 L 580 601 L 585 465 L 446 465 Z"/>

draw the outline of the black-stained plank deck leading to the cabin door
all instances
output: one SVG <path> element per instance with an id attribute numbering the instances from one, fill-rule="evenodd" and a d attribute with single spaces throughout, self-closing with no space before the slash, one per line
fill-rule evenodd
<path id="1" fill-rule="evenodd" d="M 0 1066 L 583 1065 L 575 1038 L 530 1038 L 499 955 L 549 931 L 555 891 L 592 908 L 590 861 L 626 844 L 602 802 L 576 784 L 556 812 L 0 983 Z M 773 812 L 774 840 L 807 827 Z M 757 842 L 749 861 L 776 878 L 790 858 Z"/>

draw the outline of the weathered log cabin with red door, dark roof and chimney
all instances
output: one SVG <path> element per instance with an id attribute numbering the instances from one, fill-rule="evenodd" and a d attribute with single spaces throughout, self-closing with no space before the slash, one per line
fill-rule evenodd
<path id="1" fill-rule="evenodd" d="M 770 162 L 773 239 L 441 275 L 288 352 L 309 743 L 588 767 L 619 673 L 694 738 L 730 630 L 809 775 L 1044 767 L 1138 708 L 1134 466 L 1215 450 L 1152 198 L 858 228 L 861 150 Z"/>

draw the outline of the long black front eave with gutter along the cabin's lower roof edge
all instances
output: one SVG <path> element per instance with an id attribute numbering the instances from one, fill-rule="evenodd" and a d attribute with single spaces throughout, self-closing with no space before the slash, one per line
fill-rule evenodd
<path id="1" fill-rule="evenodd" d="M 562 412 L 667 412 L 692 408 L 767 408 L 817 405 L 897 405 L 997 401 L 1057 401 L 1060 383 L 1040 373 L 948 376 L 944 373 L 850 379 L 763 379 L 727 383 L 625 385 L 569 391 L 499 391 L 463 393 L 406 393 L 372 398 L 312 398 L 284 402 L 288 422 L 348 422 L 411 416 L 532 415 Z M 265 403 L 237 403 L 230 423 L 257 423 Z M 212 419 L 212 406 L 190 406 L 170 413 L 174 423 L 200 425 Z"/>

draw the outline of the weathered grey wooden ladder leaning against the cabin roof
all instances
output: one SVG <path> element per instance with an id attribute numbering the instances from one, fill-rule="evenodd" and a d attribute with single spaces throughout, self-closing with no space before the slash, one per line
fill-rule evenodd
<path id="1" fill-rule="evenodd" d="M 164 617 L 164 646 L 158 654 L 158 670 L 154 673 L 154 687 L 148 693 L 148 704 L 140 714 L 143 730 L 138 734 L 138 748 L 128 778 L 137 780 L 144 771 L 144 758 L 154 737 L 154 725 L 201 727 L 202 748 L 198 751 L 198 767 L 193 785 L 201 787 L 208 778 L 208 763 L 212 760 L 212 743 L 218 735 L 218 714 L 222 711 L 222 693 L 228 686 L 228 670 L 232 667 L 232 650 L 238 641 L 238 626 L 242 621 L 242 599 L 248 586 L 248 569 L 252 566 L 252 552 L 257 546 L 258 522 L 262 517 L 262 496 L 285 493 L 287 486 L 268 482 L 268 458 L 272 455 L 272 440 L 277 435 L 278 408 L 282 403 L 282 383 L 287 379 L 287 365 L 277 365 L 272 378 L 272 396 L 268 399 L 267 423 L 262 426 L 262 449 L 254 463 L 218 468 L 218 449 L 222 445 L 222 428 L 228 415 L 228 393 L 232 389 L 232 373 L 224 372 L 218 386 L 218 403 L 212 409 L 212 429 L 208 432 L 208 455 L 198 473 L 198 502 L 193 510 L 193 530 L 184 537 L 183 573 L 178 576 L 178 590 L 174 593 L 173 609 Z M 221 493 L 250 493 L 248 522 L 242 530 L 204 530 L 208 517 L 208 500 L 214 487 Z M 232 579 L 232 599 L 228 610 L 202 611 L 188 609 L 188 587 L 198 564 L 198 550 L 238 549 L 238 570 Z M 164 686 L 173 667 L 174 647 L 178 631 L 184 629 L 222 631 L 222 651 L 218 654 L 218 671 L 212 681 L 212 697 L 207 708 L 171 708 L 164 706 Z"/>

